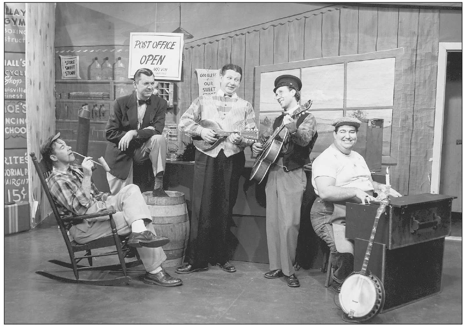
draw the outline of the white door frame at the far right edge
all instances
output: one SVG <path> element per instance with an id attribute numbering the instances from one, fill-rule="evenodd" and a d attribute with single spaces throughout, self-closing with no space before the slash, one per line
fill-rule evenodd
<path id="1" fill-rule="evenodd" d="M 431 193 L 439 194 L 441 151 L 443 147 L 444 101 L 446 95 L 447 52 L 462 51 L 462 42 L 440 42 L 438 48 L 438 75 L 436 79 L 435 123 L 433 137 Z"/>

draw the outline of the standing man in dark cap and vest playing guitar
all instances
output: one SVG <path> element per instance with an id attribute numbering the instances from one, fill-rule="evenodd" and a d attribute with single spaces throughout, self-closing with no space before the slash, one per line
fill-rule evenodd
<path id="1" fill-rule="evenodd" d="M 300 226 L 300 207 L 306 187 L 304 165 L 310 163 L 310 152 L 316 140 L 315 117 L 298 104 L 302 82 L 296 76 L 283 75 L 274 82 L 276 100 L 284 112 L 252 145 L 254 153 L 262 152 L 266 140 L 283 125 L 282 149 L 269 169 L 266 183 L 266 235 L 269 269 L 266 278 L 284 277 L 290 287 L 300 286 L 294 273 L 295 251 Z"/>

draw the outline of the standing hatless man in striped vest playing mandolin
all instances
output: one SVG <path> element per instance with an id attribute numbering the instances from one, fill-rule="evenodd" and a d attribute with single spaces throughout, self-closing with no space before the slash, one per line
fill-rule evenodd
<path id="1" fill-rule="evenodd" d="M 238 133 L 218 141 L 216 131 L 199 123 L 210 119 L 222 130 L 231 132 L 255 129 L 253 107 L 235 93 L 241 78 L 242 70 L 238 65 L 226 64 L 220 74 L 220 90 L 216 94 L 199 96 L 180 117 L 178 128 L 181 131 L 193 139 L 202 138 L 214 147 L 196 146 L 189 263 L 178 267 L 175 270 L 178 274 L 206 271 L 208 262 L 226 272 L 236 271 L 229 262 L 227 241 L 238 181 L 245 166 L 243 150 L 251 142 Z"/>

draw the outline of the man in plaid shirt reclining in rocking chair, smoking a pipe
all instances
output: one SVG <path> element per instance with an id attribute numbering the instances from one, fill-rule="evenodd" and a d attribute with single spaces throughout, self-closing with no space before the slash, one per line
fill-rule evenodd
<path id="1" fill-rule="evenodd" d="M 167 258 L 161 246 L 167 237 L 156 236 L 151 224 L 151 214 L 138 186 L 129 184 L 119 193 L 100 192 L 91 182 L 92 161 L 86 157 L 82 170 L 73 165 L 75 156 L 71 147 L 59 138 L 50 136 L 41 146 L 42 158 L 51 165 L 52 172 L 46 179 L 50 193 L 61 215 L 84 215 L 113 209 L 113 219 L 120 235 L 130 234 L 128 245 L 138 250 L 146 274 L 143 282 L 160 286 L 177 286 L 182 280 L 171 277 L 161 264 Z M 69 232 L 73 239 L 85 244 L 112 234 L 108 216 L 83 220 L 72 224 Z"/>

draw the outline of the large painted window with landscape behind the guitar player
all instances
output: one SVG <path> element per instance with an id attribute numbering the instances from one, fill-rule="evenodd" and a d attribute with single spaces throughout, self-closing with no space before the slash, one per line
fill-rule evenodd
<path id="1" fill-rule="evenodd" d="M 391 139 L 399 131 L 396 67 L 400 55 L 400 49 L 394 49 L 264 66 L 267 68 L 260 74 L 260 107 L 256 110 L 260 130 L 265 120 L 274 120 L 280 115 L 281 109 L 271 88 L 274 80 L 280 75 L 294 75 L 303 83 L 300 102 L 312 101 L 310 110 L 318 123 L 313 153 L 323 152 L 331 145 L 333 118 L 352 116 L 383 120 L 382 156 L 396 161 L 396 153 L 391 154 Z M 276 116 L 272 116 L 274 113 Z"/>

